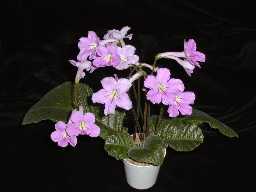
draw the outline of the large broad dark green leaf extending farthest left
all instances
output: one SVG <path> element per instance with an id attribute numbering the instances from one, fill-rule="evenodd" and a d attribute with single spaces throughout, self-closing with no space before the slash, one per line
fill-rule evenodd
<path id="1" fill-rule="evenodd" d="M 22 124 L 37 123 L 50 119 L 67 122 L 72 105 L 72 83 L 63 83 L 42 97 L 26 113 Z"/>

